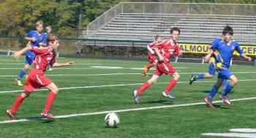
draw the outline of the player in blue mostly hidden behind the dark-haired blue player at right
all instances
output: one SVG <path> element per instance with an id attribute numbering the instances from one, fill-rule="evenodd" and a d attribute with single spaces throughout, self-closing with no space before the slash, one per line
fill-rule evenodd
<path id="1" fill-rule="evenodd" d="M 194 81 L 196 81 L 197 79 L 214 78 L 214 74 L 216 73 L 216 65 L 215 65 L 215 58 L 214 58 L 214 56 L 212 56 L 212 53 L 217 52 L 217 50 L 213 51 L 212 47 L 217 46 L 219 44 L 219 41 L 223 41 L 223 40 L 225 40 L 225 37 L 222 35 L 222 38 L 215 38 L 214 41 L 212 41 L 211 46 L 210 46 L 210 53 L 207 54 L 206 57 L 204 57 L 204 60 L 206 62 L 208 61 L 208 59 L 210 59 L 208 73 L 192 74 L 192 76 L 189 80 L 190 85 L 192 85 L 192 83 Z M 227 84 L 227 80 L 224 79 L 222 81 L 223 89 L 225 89 L 226 84 Z"/>

